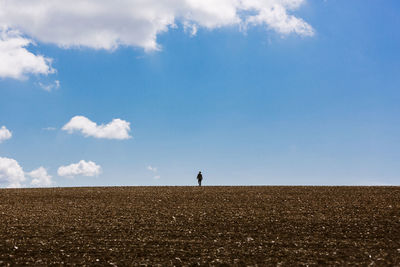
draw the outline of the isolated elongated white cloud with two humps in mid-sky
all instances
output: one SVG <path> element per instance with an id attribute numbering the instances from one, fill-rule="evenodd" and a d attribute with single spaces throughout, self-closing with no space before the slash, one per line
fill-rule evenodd
<path id="1" fill-rule="evenodd" d="M 113 119 L 108 124 L 97 125 L 84 116 L 75 116 L 62 130 L 68 133 L 81 132 L 84 136 L 105 139 L 129 139 L 130 123 L 121 119 Z"/>

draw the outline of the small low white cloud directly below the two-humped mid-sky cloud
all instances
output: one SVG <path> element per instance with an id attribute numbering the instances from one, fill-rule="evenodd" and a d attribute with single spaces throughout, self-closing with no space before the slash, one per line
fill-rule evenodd
<path id="1" fill-rule="evenodd" d="M 82 176 L 97 176 L 101 173 L 101 167 L 96 165 L 93 161 L 81 160 L 78 163 L 70 164 L 68 166 L 61 166 L 58 168 L 57 174 L 59 176 L 74 177 Z"/>

